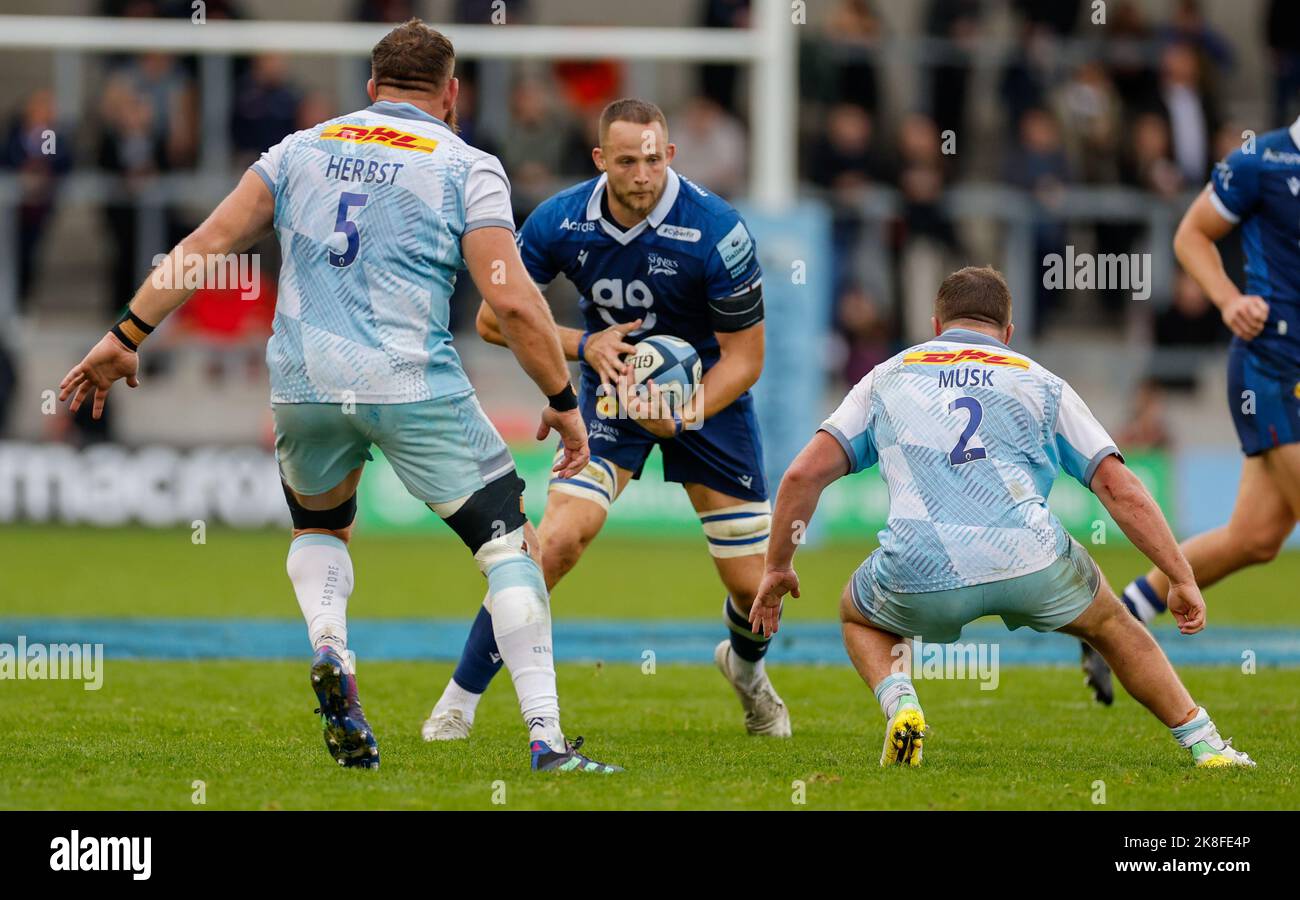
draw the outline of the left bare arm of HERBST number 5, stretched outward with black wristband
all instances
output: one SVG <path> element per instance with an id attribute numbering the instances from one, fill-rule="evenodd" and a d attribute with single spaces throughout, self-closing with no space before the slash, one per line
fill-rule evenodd
<path id="1" fill-rule="evenodd" d="M 70 397 L 72 411 L 77 412 L 86 398 L 94 395 L 91 415 L 99 419 L 114 381 L 126 378 L 127 386 L 136 388 L 139 356 L 135 351 L 139 343 L 195 291 L 192 286 L 183 286 L 192 285 L 192 278 L 179 274 L 190 271 L 186 258 L 199 255 L 207 260 L 213 255 L 247 250 L 270 230 L 274 216 L 276 200 L 266 185 L 256 173 L 246 172 L 239 185 L 212 215 L 172 248 L 162 265 L 150 273 L 113 330 L 100 338 L 81 363 L 69 369 L 58 385 L 60 402 Z M 204 265 L 204 274 L 211 268 Z M 160 277 L 168 272 L 177 274 L 172 278 Z"/>

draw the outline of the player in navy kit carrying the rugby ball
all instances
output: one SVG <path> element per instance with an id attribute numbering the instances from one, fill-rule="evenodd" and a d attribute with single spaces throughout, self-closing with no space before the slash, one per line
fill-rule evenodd
<path id="1" fill-rule="evenodd" d="M 545 286 L 563 274 L 581 294 L 582 328 L 562 328 L 560 341 L 568 359 L 581 364 L 578 397 L 592 445 L 581 472 L 550 483 L 538 525 L 543 574 L 552 588 L 573 568 L 610 505 L 658 446 L 664 479 L 685 488 L 725 588 L 729 633 L 714 659 L 740 697 L 748 731 L 786 737 L 789 714 L 763 665 L 768 639 L 749 626 L 771 518 L 749 393 L 763 367 L 762 272 L 740 215 L 673 172 L 672 157 L 659 108 L 616 100 L 601 114 L 599 147 L 592 151 L 598 177 L 542 203 L 520 230 L 532 278 Z M 502 343 L 488 307 L 480 308 L 478 330 Z M 653 397 L 628 395 L 624 356 L 658 334 L 686 341 L 703 364 L 698 402 L 680 412 Z M 598 395 L 602 385 L 618 389 L 625 403 Z M 629 580 L 640 575 L 628 572 Z M 425 740 L 468 737 L 478 698 L 499 667 L 491 616 L 482 609 L 424 723 Z"/>

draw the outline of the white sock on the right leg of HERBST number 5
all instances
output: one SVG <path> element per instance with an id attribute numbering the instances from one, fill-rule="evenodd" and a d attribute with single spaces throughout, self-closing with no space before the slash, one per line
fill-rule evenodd
<path id="1" fill-rule="evenodd" d="M 551 610 L 542 570 L 530 557 L 517 555 L 488 570 L 493 633 L 502 662 L 515 680 L 519 711 L 529 740 L 564 749 L 560 701 L 551 652 Z"/>

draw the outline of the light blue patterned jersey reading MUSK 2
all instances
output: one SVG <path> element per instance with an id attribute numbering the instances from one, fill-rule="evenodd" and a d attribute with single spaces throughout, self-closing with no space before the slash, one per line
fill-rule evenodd
<path id="1" fill-rule="evenodd" d="M 822 430 L 852 471 L 880 463 L 889 519 L 872 574 L 904 593 L 1045 568 L 1069 540 L 1048 510 L 1057 472 L 1087 486 L 1119 455 L 1062 378 L 956 328 L 876 365 Z"/>

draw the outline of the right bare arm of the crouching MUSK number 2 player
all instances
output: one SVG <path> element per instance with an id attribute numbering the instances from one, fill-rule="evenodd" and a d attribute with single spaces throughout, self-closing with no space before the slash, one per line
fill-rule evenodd
<path id="1" fill-rule="evenodd" d="M 1174 532 L 1156 499 L 1118 457 L 1097 466 L 1089 485 L 1121 531 L 1156 567 L 1169 576 L 1169 611 L 1184 635 L 1205 627 L 1205 601 Z"/>

